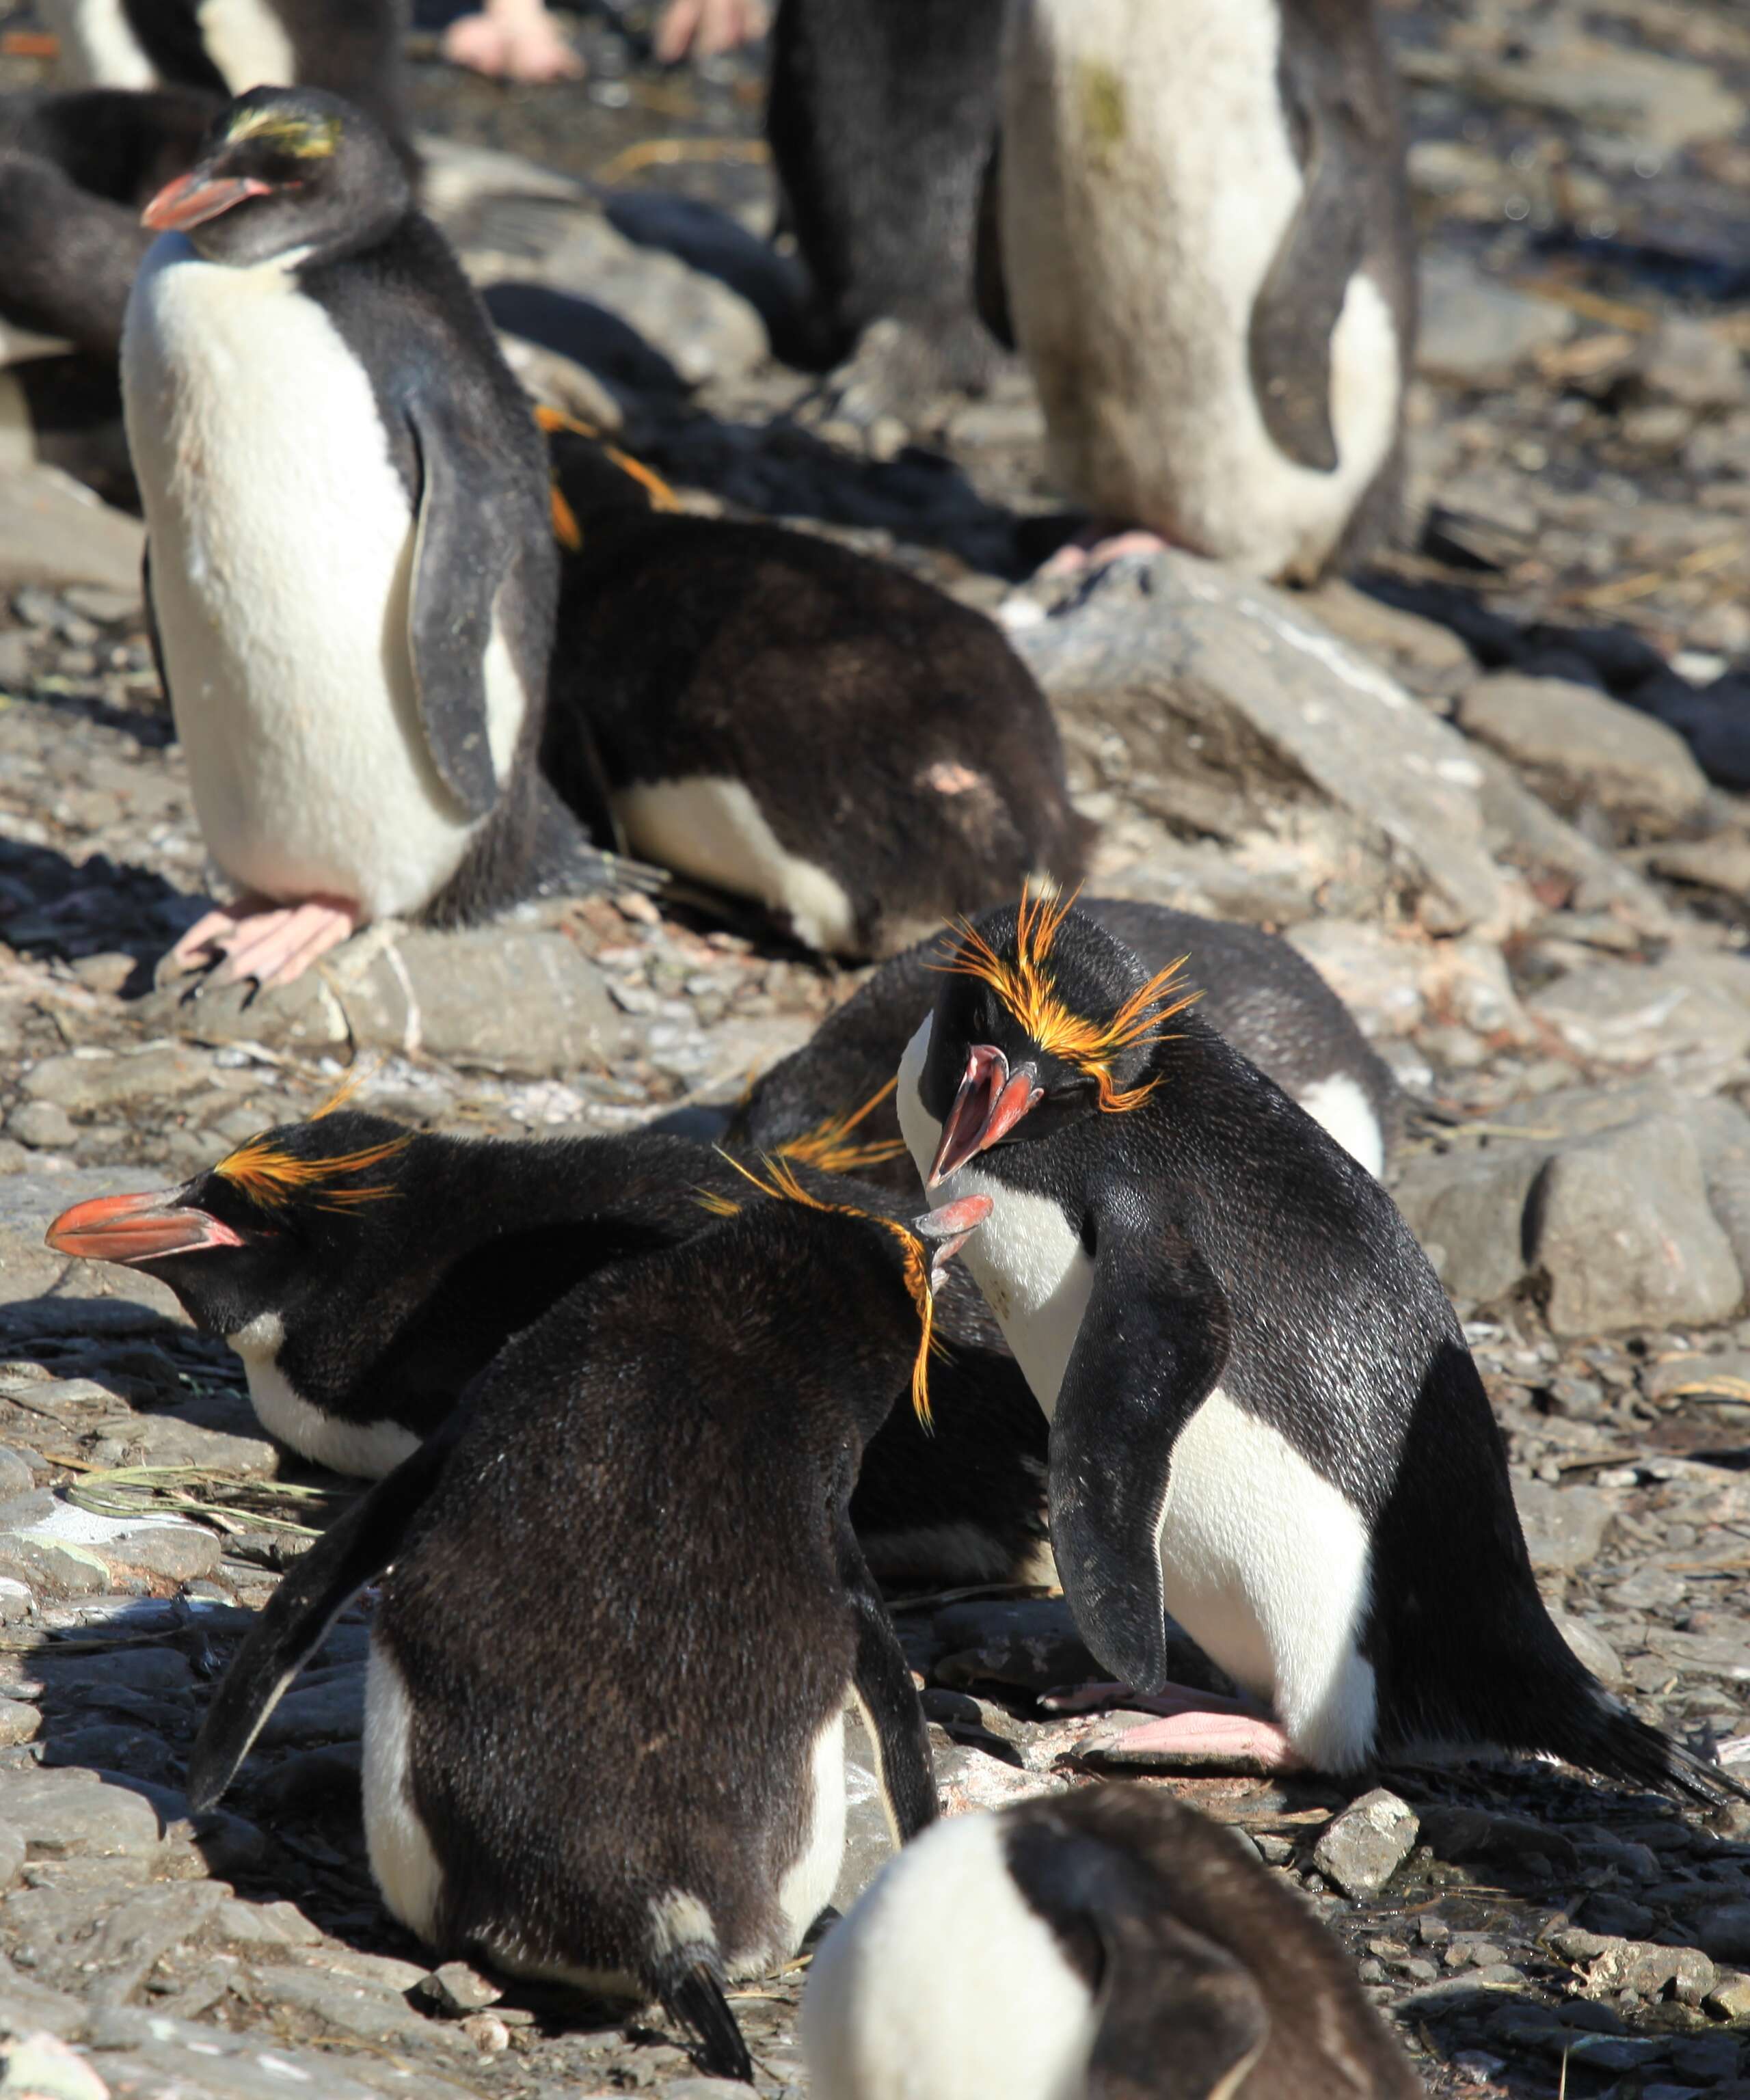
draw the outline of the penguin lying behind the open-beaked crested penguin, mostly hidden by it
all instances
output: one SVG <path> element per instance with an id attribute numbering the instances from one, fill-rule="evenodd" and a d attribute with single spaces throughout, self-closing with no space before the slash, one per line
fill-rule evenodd
<path id="1" fill-rule="evenodd" d="M 1403 1128 L 1403 1090 L 1384 1058 L 1368 1048 L 1349 1008 L 1298 949 L 1258 926 L 1122 897 L 1084 897 L 1078 909 L 1124 941 L 1149 972 L 1189 956 L 1189 976 L 1202 987 L 1197 1012 L 1204 1021 L 1292 1094 L 1370 1174 L 1384 1170 Z M 935 1006 L 941 989 L 937 966 L 950 951 L 952 937 L 935 934 L 884 962 L 800 1050 L 756 1082 L 735 1111 L 725 1142 L 758 1151 L 824 1142 L 845 1121 L 847 1109 L 887 1088 L 887 1098 L 859 1115 L 855 1128 L 838 1132 L 840 1157 L 849 1172 L 916 1191 L 889 1082 L 918 1016 Z M 830 1163 L 821 1159 L 821 1166 Z"/>

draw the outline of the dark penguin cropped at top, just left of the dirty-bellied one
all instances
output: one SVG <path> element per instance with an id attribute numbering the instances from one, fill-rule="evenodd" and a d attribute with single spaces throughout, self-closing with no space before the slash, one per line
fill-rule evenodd
<path id="1" fill-rule="evenodd" d="M 819 361 L 855 420 L 977 393 L 1002 346 L 973 302 L 1004 0 L 779 0 L 767 143 L 813 279 Z"/>

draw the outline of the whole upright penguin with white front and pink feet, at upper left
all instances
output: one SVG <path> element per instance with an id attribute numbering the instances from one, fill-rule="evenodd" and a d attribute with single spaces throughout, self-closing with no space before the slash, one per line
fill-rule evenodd
<path id="1" fill-rule="evenodd" d="M 122 391 L 147 603 L 246 892 L 174 958 L 286 983 L 363 920 L 601 880 L 538 764 L 540 433 L 384 134 L 313 88 L 244 94 L 145 220 Z"/>

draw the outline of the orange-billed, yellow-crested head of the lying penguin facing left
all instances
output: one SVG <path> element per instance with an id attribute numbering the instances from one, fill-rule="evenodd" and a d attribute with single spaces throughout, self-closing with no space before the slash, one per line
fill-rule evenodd
<path id="1" fill-rule="evenodd" d="M 357 1111 L 282 1124 L 181 1189 L 74 1203 L 46 1239 L 57 1254 L 143 1268 L 197 1327 L 233 1336 L 313 1289 L 338 1296 L 378 1214 L 395 1231 L 397 1161 L 412 1142 Z"/>

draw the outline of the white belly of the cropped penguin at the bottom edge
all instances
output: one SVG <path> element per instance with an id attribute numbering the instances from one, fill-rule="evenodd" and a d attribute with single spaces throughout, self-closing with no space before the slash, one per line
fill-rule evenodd
<path id="1" fill-rule="evenodd" d="M 1078 2100 L 1099 2012 L 1008 1873 L 1002 1819 L 937 1823 L 828 1932 L 803 1997 L 815 2100 Z"/>

